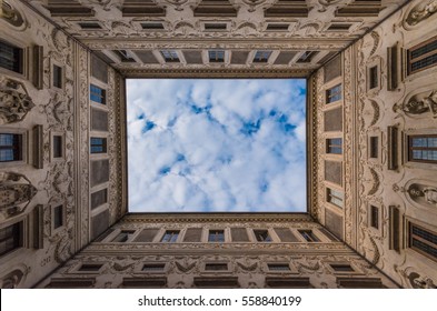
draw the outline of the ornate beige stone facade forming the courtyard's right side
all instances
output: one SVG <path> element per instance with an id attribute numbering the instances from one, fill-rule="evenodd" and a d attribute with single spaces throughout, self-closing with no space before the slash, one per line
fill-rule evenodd
<path id="1" fill-rule="evenodd" d="M 322 169 L 330 136 L 322 128 L 322 111 L 331 106 L 325 99 L 327 67 L 311 78 L 319 108 L 314 148 L 320 159 L 314 214 L 405 288 L 437 283 L 436 255 L 415 250 L 410 242 L 410 223 L 437 232 L 437 163 L 417 162 L 408 154 L 409 137 L 437 133 L 437 67 L 408 72 L 408 50 L 435 40 L 435 7 L 436 1 L 411 1 L 341 54 L 345 208 L 336 209 L 344 221 L 335 228 L 324 189 L 330 181 Z"/>

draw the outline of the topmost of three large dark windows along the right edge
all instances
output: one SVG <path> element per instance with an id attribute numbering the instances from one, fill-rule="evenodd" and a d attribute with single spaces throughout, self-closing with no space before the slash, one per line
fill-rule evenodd
<path id="1" fill-rule="evenodd" d="M 408 74 L 431 68 L 437 64 L 437 37 L 418 44 L 407 52 Z"/>

